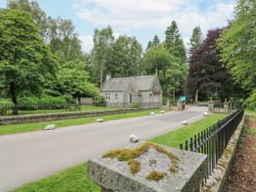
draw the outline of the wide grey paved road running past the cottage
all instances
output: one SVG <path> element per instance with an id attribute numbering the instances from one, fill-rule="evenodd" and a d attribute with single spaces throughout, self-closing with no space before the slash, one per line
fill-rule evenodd
<path id="1" fill-rule="evenodd" d="M 132 134 L 140 140 L 166 134 L 181 127 L 182 120 L 200 120 L 205 110 L 194 106 L 164 115 L 0 136 L 0 191 L 39 180 L 127 145 Z"/>

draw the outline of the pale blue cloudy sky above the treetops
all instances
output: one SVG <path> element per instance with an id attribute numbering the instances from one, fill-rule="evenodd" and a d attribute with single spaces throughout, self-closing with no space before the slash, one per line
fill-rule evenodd
<path id="1" fill-rule="evenodd" d="M 232 19 L 234 4 L 234 0 L 75 0 L 73 8 L 80 19 L 90 24 L 110 24 L 125 33 L 136 29 L 165 31 L 175 20 L 187 42 L 197 25 L 204 34 L 226 25 Z M 82 41 L 87 40 L 82 37 Z"/>

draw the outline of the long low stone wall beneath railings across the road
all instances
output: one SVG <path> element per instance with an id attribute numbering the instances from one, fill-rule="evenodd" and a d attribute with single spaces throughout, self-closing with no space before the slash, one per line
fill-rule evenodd
<path id="1" fill-rule="evenodd" d="M 152 108 L 152 109 L 155 109 L 155 108 Z M 51 114 L 40 114 L 40 115 L 4 116 L 4 117 L 0 117 L 0 125 L 21 124 L 21 123 L 27 123 L 27 122 L 40 122 L 40 121 L 50 121 L 50 120 L 88 118 L 88 117 L 115 115 L 115 114 L 145 111 L 145 110 L 149 110 L 149 108 L 120 109 L 120 110 L 98 111 L 98 112 L 71 112 L 71 113 L 51 113 Z"/>

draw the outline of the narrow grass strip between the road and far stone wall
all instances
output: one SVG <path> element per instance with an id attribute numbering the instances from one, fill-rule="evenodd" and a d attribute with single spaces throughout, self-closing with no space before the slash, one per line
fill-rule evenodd
<path id="1" fill-rule="evenodd" d="M 91 123 L 91 122 L 94 122 L 97 118 L 103 118 L 104 120 L 120 120 L 120 119 L 147 116 L 147 115 L 150 115 L 151 111 L 154 111 L 154 113 L 160 113 L 161 110 L 154 109 L 154 110 L 146 110 L 146 111 L 139 111 L 139 112 L 132 112 L 132 113 L 123 113 L 123 114 L 117 114 L 117 115 L 107 115 L 107 116 L 101 116 L 101 117 L 99 116 L 99 117 L 79 118 L 79 119 L 70 119 L 70 120 L 53 120 L 53 121 L 43 121 L 43 122 L 34 122 L 34 123 L 25 123 L 25 124 L 0 125 L 0 136 L 41 130 L 47 124 L 51 124 L 51 123 L 56 124 L 56 128 L 62 128 L 62 127 L 71 126 L 71 125 Z"/>

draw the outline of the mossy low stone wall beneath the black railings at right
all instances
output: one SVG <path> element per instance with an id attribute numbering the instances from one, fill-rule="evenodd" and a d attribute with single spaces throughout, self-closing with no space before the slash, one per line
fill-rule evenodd
<path id="1" fill-rule="evenodd" d="M 200 189 L 201 192 L 223 192 L 226 191 L 228 177 L 232 169 L 232 160 L 236 151 L 239 138 L 242 134 L 245 118 L 241 120 L 238 128 L 232 135 L 232 138 L 223 152 L 221 158 L 214 169 L 214 173 L 209 177 L 207 183 Z"/>

